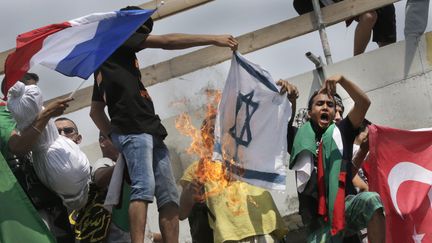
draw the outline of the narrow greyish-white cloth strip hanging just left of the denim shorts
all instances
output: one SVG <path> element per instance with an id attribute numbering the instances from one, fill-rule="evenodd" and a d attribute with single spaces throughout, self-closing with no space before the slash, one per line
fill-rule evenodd
<path id="1" fill-rule="evenodd" d="M 123 184 L 123 172 L 125 169 L 125 160 L 123 155 L 119 156 L 114 167 L 111 181 L 108 186 L 108 192 L 105 197 L 104 207 L 108 211 L 112 211 L 113 206 L 119 204 L 121 189 Z"/>

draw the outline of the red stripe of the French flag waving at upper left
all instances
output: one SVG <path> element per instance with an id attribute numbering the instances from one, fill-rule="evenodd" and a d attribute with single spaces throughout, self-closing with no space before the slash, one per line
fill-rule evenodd
<path id="1" fill-rule="evenodd" d="M 5 98 L 10 87 L 30 69 L 30 59 L 42 48 L 45 38 L 70 26 L 69 22 L 52 24 L 18 35 L 16 49 L 8 55 L 4 66 L 1 89 Z"/>

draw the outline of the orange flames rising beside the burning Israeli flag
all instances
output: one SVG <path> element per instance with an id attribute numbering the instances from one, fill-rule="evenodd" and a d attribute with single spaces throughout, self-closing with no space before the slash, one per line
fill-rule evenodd
<path id="1" fill-rule="evenodd" d="M 224 194 L 224 200 L 226 200 L 226 205 L 230 208 L 231 212 L 238 216 L 247 212 L 244 208 L 244 204 L 240 202 L 243 200 L 239 195 L 247 193 L 246 184 L 234 180 L 232 177 L 232 172 L 237 170 L 238 173 L 242 173 L 242 168 L 234 168 L 234 160 L 232 156 L 226 155 L 226 149 L 222 148 L 222 154 L 224 160 L 229 161 L 228 163 L 215 162 L 212 161 L 213 155 L 213 144 L 214 144 L 214 121 L 217 114 L 218 103 L 221 99 L 221 92 L 216 90 L 206 90 L 207 94 L 207 105 L 206 105 L 206 115 L 204 118 L 203 125 L 201 129 L 196 128 L 192 124 L 191 117 L 183 113 L 179 115 L 176 119 L 175 126 L 176 129 L 183 135 L 192 138 L 190 146 L 186 149 L 186 152 L 191 155 L 196 155 L 200 158 L 197 169 L 195 171 L 195 180 L 201 185 L 195 190 L 195 200 L 203 202 L 209 197 L 217 196 L 221 193 Z M 224 140 L 225 146 L 227 142 Z M 228 140 L 226 140 L 228 141 Z M 229 139 L 232 141 L 232 139 Z M 203 185 L 206 186 L 204 190 Z M 247 197 L 248 202 L 257 207 L 257 203 L 251 198 Z"/>

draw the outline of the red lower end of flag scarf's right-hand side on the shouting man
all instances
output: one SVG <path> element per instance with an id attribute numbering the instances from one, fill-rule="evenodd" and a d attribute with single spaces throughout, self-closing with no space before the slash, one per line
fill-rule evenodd
<path id="1" fill-rule="evenodd" d="M 345 185 L 346 171 L 341 170 L 339 174 L 339 188 L 336 194 L 335 206 L 333 210 L 333 220 L 331 228 L 332 235 L 339 233 L 339 231 L 343 230 L 345 226 Z"/>

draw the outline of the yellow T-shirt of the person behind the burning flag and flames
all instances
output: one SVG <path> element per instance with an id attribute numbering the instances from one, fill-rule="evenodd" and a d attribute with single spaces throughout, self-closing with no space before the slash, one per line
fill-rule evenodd
<path id="1" fill-rule="evenodd" d="M 197 166 L 198 162 L 192 163 L 180 181 L 191 182 L 196 178 Z M 218 191 L 217 187 L 215 182 L 205 184 L 206 192 Z M 214 215 L 214 219 L 209 217 L 209 223 L 215 242 L 270 233 L 282 238 L 288 232 L 271 194 L 248 183 L 233 181 L 206 198 L 206 203 Z"/>

